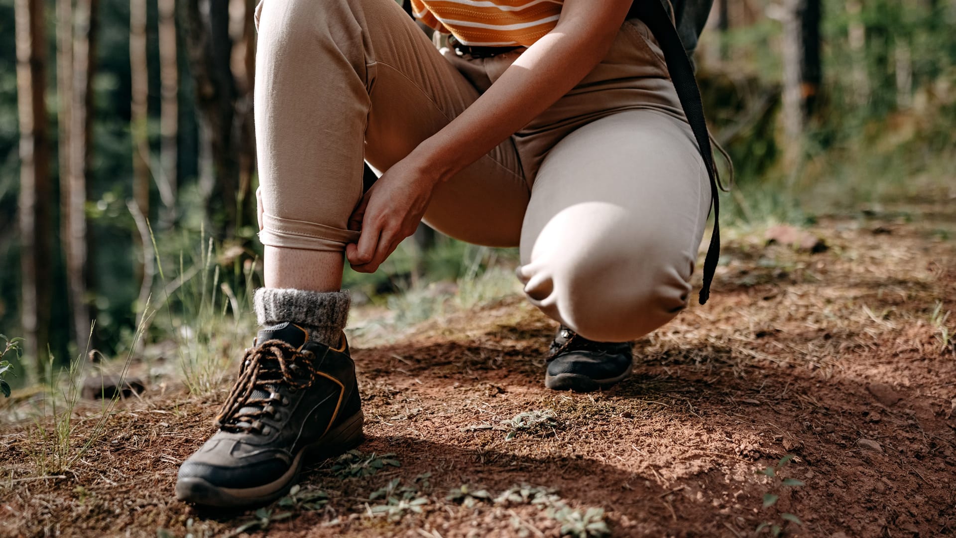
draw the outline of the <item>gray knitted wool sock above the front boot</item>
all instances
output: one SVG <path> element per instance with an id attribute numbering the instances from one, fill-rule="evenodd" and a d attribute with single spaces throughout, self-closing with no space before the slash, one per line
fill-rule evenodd
<path id="1" fill-rule="evenodd" d="M 290 322 L 309 330 L 310 338 L 337 347 L 349 317 L 348 290 L 317 292 L 292 288 L 259 288 L 253 296 L 259 325 Z"/>

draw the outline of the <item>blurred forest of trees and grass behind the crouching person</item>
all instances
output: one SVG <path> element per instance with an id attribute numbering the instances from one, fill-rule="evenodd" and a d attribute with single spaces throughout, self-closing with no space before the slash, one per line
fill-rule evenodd
<path id="1" fill-rule="evenodd" d="M 0 0 L 0 332 L 26 339 L 12 381 L 42 376 L 47 349 L 66 364 L 141 345 L 138 327 L 156 341 L 250 317 L 254 2 Z M 954 28 L 956 0 L 718 0 L 696 61 L 736 165 L 727 224 L 800 224 L 951 172 Z M 381 301 L 513 256 L 406 243 L 346 285 Z"/>

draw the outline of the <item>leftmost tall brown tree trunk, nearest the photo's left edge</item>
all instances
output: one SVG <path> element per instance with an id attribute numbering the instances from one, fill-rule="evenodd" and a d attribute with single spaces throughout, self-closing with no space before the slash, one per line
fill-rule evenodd
<path id="1" fill-rule="evenodd" d="M 24 351 L 30 380 L 43 372 L 50 329 L 51 188 L 42 0 L 16 0 L 16 81 L 20 121 L 20 258 Z M 28 359 L 29 361 L 29 359 Z"/>

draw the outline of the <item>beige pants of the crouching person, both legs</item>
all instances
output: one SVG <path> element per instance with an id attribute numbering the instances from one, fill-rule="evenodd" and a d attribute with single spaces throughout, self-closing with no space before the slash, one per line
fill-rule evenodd
<path id="1" fill-rule="evenodd" d="M 356 241 L 362 157 L 388 169 L 520 55 L 443 56 L 395 0 L 263 0 L 256 14 L 259 236 L 273 247 Z M 574 90 L 440 184 L 424 220 L 520 245 L 534 305 L 586 338 L 627 341 L 687 304 L 709 206 L 662 53 L 633 20 Z"/>

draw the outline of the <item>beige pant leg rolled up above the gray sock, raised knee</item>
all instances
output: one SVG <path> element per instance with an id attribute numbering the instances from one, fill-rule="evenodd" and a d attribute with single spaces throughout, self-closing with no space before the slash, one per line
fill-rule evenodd
<path id="1" fill-rule="evenodd" d="M 257 24 L 259 237 L 342 251 L 359 237 L 347 228 L 362 159 L 387 170 L 478 92 L 394 0 L 263 0 Z M 508 140 L 440 185 L 425 219 L 471 242 L 515 245 L 528 197 Z"/>

